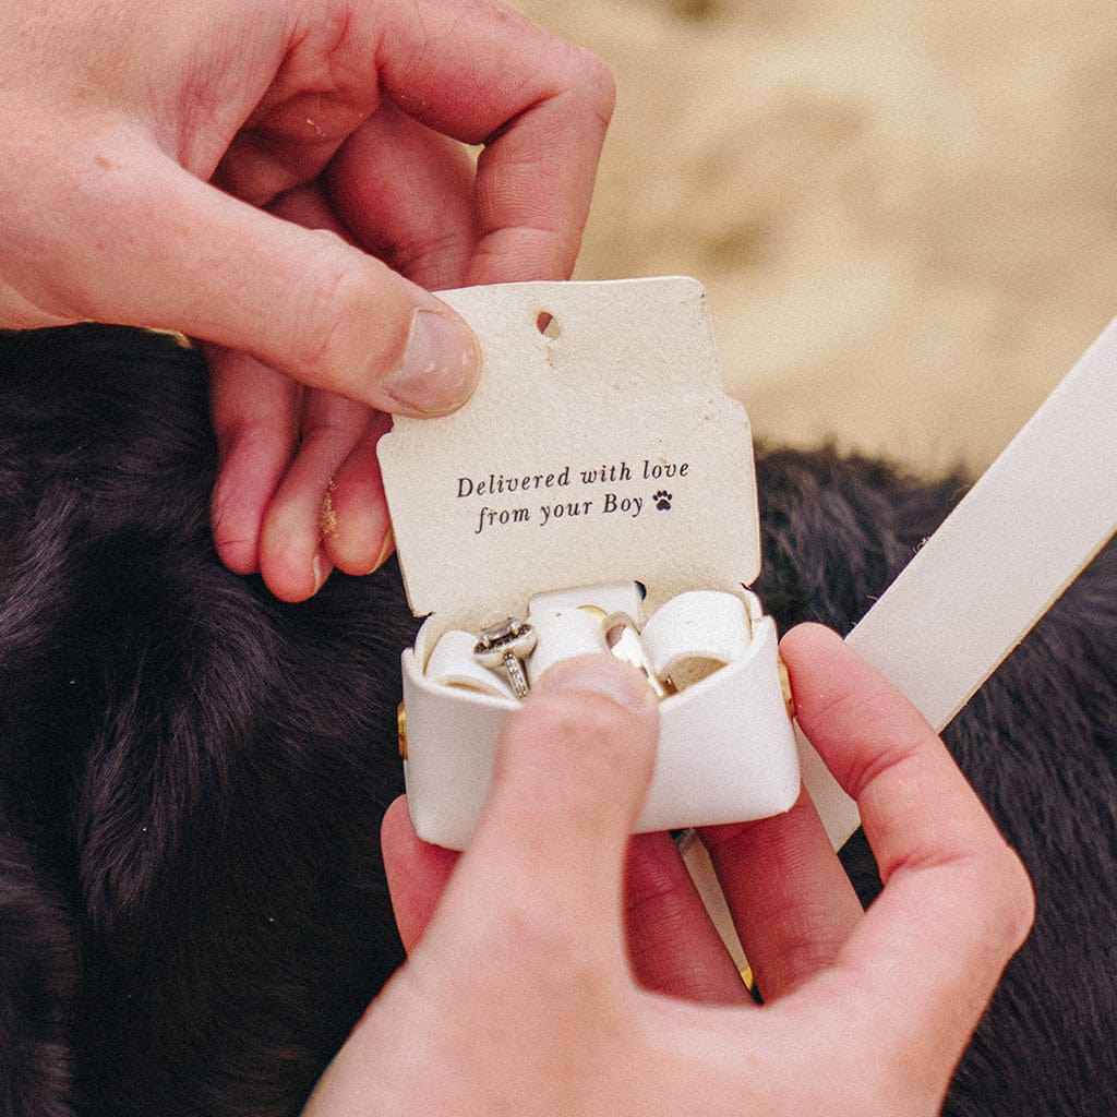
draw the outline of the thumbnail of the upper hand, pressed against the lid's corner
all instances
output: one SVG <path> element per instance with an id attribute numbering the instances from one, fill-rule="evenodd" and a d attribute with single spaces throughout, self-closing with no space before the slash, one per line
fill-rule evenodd
<path id="1" fill-rule="evenodd" d="M 437 311 L 416 311 L 403 363 L 384 379 L 384 390 L 410 410 L 446 414 L 469 399 L 480 355 L 472 333 Z"/>

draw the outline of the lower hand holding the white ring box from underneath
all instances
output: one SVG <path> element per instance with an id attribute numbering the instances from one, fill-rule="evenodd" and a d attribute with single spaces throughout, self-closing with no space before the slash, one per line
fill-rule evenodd
<path id="1" fill-rule="evenodd" d="M 782 649 L 880 866 L 868 913 L 805 796 L 706 831 L 764 994 L 752 1003 L 669 839 L 629 842 L 653 701 L 615 661 L 573 660 L 509 722 L 460 860 L 390 812 L 409 962 L 306 1113 L 937 1113 L 1030 926 L 1028 879 L 904 698 L 824 629 Z"/>

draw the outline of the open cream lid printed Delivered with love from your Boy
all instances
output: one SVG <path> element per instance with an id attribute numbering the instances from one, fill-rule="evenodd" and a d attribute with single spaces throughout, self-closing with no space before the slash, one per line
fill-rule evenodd
<path id="1" fill-rule="evenodd" d="M 416 615 L 441 631 L 542 590 L 639 581 L 647 607 L 760 573 L 752 436 L 685 277 L 440 293 L 480 382 L 457 412 L 397 417 L 378 454 Z"/>

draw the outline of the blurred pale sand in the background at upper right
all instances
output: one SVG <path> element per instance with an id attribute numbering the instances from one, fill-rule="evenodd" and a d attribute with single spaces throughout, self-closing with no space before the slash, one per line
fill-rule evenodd
<path id="1" fill-rule="evenodd" d="M 579 278 L 707 287 L 758 437 L 981 468 L 1117 314 L 1111 0 L 513 0 L 610 65 Z"/>

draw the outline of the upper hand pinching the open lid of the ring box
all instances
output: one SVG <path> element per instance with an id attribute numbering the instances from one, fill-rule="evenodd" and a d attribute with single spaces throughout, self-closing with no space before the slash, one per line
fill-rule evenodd
<path id="1" fill-rule="evenodd" d="M 383 412 L 477 376 L 428 289 L 570 275 L 602 65 L 494 0 L 20 0 L 0 74 L 0 326 L 212 343 L 223 561 L 373 570 Z"/>

